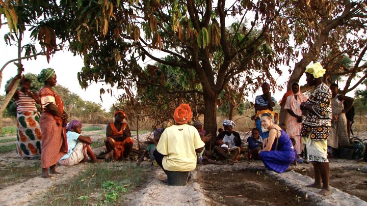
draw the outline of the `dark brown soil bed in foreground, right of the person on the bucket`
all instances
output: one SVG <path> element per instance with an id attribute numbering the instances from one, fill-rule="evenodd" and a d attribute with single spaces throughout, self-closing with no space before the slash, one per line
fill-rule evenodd
<path id="1" fill-rule="evenodd" d="M 206 195 L 217 205 L 309 205 L 297 191 L 260 170 L 201 175 Z"/>

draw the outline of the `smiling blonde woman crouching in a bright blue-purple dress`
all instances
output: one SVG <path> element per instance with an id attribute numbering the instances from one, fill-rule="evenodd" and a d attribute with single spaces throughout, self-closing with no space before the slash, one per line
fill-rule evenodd
<path id="1" fill-rule="evenodd" d="M 296 160 L 296 151 L 290 137 L 274 124 L 271 113 L 261 115 L 261 126 L 269 130 L 269 137 L 264 140 L 264 149 L 259 151 L 261 161 L 266 168 L 278 173 L 284 172 Z"/>

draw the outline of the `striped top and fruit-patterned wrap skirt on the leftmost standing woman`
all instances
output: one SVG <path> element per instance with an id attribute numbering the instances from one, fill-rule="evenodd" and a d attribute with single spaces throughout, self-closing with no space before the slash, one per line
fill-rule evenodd
<path id="1" fill-rule="evenodd" d="M 18 157 L 37 157 L 41 154 L 42 133 L 39 126 L 40 114 L 36 101 L 18 91 L 17 104 L 17 150 Z"/>

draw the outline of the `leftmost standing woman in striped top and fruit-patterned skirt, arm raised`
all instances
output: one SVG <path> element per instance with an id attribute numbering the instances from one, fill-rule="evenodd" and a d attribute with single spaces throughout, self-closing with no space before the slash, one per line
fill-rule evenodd
<path id="1" fill-rule="evenodd" d="M 20 79 L 16 75 L 6 87 L 8 94 L 15 80 Z M 17 105 L 17 156 L 22 158 L 35 158 L 41 154 L 42 134 L 40 130 L 39 112 L 36 103 L 39 104 L 38 95 L 30 91 L 31 80 L 20 80 L 20 90 L 16 91 L 13 98 Z"/>

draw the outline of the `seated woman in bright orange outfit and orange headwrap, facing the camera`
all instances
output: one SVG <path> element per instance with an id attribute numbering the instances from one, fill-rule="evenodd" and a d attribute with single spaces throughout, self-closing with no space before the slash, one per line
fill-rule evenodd
<path id="1" fill-rule="evenodd" d="M 106 128 L 106 144 L 107 152 L 114 151 L 116 160 L 128 160 L 128 155 L 133 149 L 134 140 L 131 138 L 130 128 L 123 120 L 126 114 L 123 111 L 115 112 L 115 122 L 111 122 Z"/>

